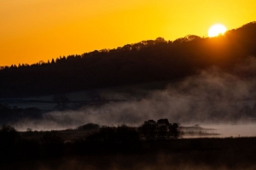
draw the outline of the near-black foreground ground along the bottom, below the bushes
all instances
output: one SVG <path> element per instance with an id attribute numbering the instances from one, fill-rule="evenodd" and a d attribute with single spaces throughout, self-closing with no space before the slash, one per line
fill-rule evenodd
<path id="1" fill-rule="evenodd" d="M 8 149 L 8 150 L 5 150 Z M 256 138 L 172 139 L 136 143 L 39 144 L 1 148 L 1 169 L 256 169 Z"/>

